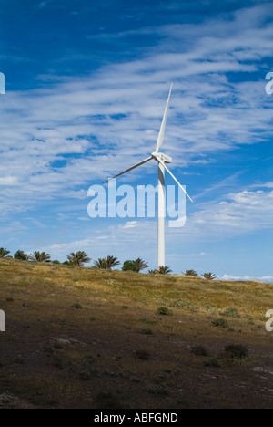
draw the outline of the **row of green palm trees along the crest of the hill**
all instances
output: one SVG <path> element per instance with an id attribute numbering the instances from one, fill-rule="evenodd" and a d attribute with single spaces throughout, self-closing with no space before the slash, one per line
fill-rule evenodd
<path id="1" fill-rule="evenodd" d="M 5 249 L 4 247 L 0 247 L 0 258 L 4 258 L 9 254 L 10 254 L 10 251 Z M 38 251 L 35 251 L 31 255 L 27 255 L 25 254 L 24 251 L 19 249 L 15 253 L 14 258 L 19 261 L 32 261 L 35 263 L 52 262 L 54 264 L 61 264 L 57 260 L 51 261 L 51 256 L 49 254 L 46 254 L 45 252 L 38 252 Z M 67 255 L 67 259 L 63 264 L 67 266 L 84 266 L 90 261 L 91 261 L 91 258 L 89 258 L 89 256 L 86 254 L 85 251 L 78 251 L 76 253 L 71 252 L 70 255 Z M 108 255 L 106 258 L 96 259 L 93 265 L 96 266 L 96 268 L 110 271 L 114 266 L 119 266 L 120 262 L 118 261 L 116 256 Z M 136 273 L 139 273 L 140 271 L 146 268 L 148 268 L 147 262 L 141 258 L 136 258 L 135 260 L 128 259 L 123 263 L 123 266 L 122 266 L 123 271 L 134 271 Z M 168 266 L 159 266 L 156 270 L 148 270 L 149 275 L 157 275 L 157 274 L 168 275 L 171 272 L 172 270 Z M 191 277 L 198 276 L 195 270 L 186 270 L 186 272 L 183 273 L 183 275 L 191 276 Z M 204 273 L 202 276 L 207 280 L 213 280 L 217 277 L 213 273 Z"/>

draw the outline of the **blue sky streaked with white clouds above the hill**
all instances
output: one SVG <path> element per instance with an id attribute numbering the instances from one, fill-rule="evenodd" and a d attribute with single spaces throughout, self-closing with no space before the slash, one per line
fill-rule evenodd
<path id="1" fill-rule="evenodd" d="M 163 148 L 195 203 L 167 266 L 273 282 L 272 46 L 272 2 L 0 0 L 0 245 L 156 267 L 157 220 L 91 219 L 87 190 L 154 151 L 173 81 Z"/>

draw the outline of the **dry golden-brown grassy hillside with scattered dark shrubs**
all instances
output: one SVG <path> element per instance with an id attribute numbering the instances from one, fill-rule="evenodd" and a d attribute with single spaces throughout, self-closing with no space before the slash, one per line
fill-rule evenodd
<path id="1" fill-rule="evenodd" d="M 272 408 L 270 308 L 268 284 L 2 259 L 0 407 Z"/>

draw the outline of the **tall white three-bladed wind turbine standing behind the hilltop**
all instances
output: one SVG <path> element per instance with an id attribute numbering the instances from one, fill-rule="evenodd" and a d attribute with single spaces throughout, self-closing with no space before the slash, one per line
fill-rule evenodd
<path id="1" fill-rule="evenodd" d="M 157 146 L 156 151 L 152 152 L 150 157 L 145 159 L 144 161 L 139 161 L 139 163 L 136 163 L 134 166 L 132 166 L 129 169 L 126 169 L 126 171 L 117 173 L 117 175 L 113 176 L 112 178 L 109 178 L 103 183 L 109 182 L 111 180 L 114 180 L 114 178 L 117 178 L 117 176 L 123 175 L 126 172 L 132 171 L 133 169 L 138 168 L 138 166 L 141 166 L 142 164 L 147 163 L 147 161 L 155 160 L 158 163 L 158 223 L 157 223 L 157 268 L 159 266 L 166 266 L 165 264 L 165 217 L 166 217 L 166 196 L 165 196 L 165 171 L 167 171 L 170 176 L 177 182 L 178 186 L 183 190 L 183 192 L 187 195 L 189 200 L 191 202 L 192 199 L 187 194 L 186 190 L 180 182 L 177 181 L 177 178 L 173 175 L 172 172 L 169 171 L 169 169 L 166 166 L 166 163 L 171 163 L 172 158 L 167 156 L 167 154 L 164 154 L 163 152 L 159 152 L 160 148 L 162 147 L 163 141 L 164 141 L 164 133 L 166 128 L 166 120 L 167 120 L 167 109 L 169 105 L 169 100 L 171 96 L 173 83 L 171 84 L 171 87 L 169 89 L 169 94 L 167 98 L 167 104 L 163 116 L 163 120 L 161 122 L 159 134 L 157 137 Z"/>

